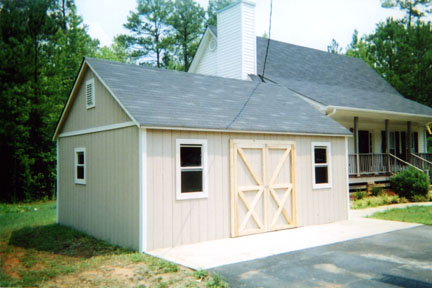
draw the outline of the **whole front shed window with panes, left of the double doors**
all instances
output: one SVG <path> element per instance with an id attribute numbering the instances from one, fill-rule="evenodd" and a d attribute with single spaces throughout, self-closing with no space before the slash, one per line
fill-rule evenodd
<path id="1" fill-rule="evenodd" d="M 207 140 L 177 139 L 177 200 L 207 194 Z"/>

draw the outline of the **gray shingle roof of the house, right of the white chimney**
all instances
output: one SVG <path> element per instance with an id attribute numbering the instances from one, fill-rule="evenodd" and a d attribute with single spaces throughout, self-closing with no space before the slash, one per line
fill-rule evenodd
<path id="1" fill-rule="evenodd" d="M 257 37 L 262 74 L 267 39 Z M 431 115 L 400 95 L 363 60 L 271 40 L 265 77 L 324 105 Z"/>

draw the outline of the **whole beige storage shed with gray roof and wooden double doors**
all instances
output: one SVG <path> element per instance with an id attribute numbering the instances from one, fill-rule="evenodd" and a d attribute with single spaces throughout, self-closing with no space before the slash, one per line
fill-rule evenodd
<path id="1" fill-rule="evenodd" d="M 57 221 L 150 251 L 344 220 L 350 135 L 283 86 L 85 58 Z"/>

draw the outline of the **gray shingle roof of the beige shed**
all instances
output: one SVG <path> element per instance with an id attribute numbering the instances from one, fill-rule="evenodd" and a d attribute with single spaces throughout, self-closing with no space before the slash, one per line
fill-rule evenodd
<path id="1" fill-rule="evenodd" d="M 280 85 L 86 61 L 142 126 L 351 134 Z"/>

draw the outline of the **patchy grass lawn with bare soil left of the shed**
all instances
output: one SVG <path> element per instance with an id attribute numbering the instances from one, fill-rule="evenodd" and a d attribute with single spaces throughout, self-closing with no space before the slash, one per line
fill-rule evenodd
<path id="1" fill-rule="evenodd" d="M 55 223 L 55 202 L 0 204 L 0 287 L 227 287 Z"/>

